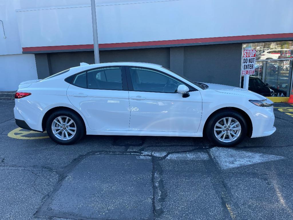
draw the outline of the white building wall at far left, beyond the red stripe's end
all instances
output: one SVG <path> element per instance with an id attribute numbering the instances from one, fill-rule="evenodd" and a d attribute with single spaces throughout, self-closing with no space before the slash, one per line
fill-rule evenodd
<path id="1" fill-rule="evenodd" d="M 34 54 L 22 54 L 15 2 L 0 0 L 0 91 L 17 90 L 20 82 L 38 79 Z"/>

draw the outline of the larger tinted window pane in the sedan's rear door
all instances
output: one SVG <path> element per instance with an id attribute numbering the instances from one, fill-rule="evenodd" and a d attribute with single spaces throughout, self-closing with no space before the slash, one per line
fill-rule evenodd
<path id="1" fill-rule="evenodd" d="M 122 90 L 122 67 L 106 67 L 87 72 L 88 89 Z"/>

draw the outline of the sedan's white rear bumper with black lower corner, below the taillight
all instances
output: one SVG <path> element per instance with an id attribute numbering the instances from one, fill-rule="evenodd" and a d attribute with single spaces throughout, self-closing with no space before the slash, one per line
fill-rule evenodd
<path id="1" fill-rule="evenodd" d="M 16 119 L 16 124 L 24 129 L 31 131 L 43 132 L 42 119 L 44 117 L 43 113 L 30 108 L 29 106 L 23 104 L 19 99 L 15 99 L 14 118 Z"/>

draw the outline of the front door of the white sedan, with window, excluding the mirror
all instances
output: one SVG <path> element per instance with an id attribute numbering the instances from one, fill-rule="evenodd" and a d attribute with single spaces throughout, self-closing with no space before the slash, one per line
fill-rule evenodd
<path id="1" fill-rule="evenodd" d="M 189 86 L 190 96 L 183 98 L 177 88 L 184 83 L 167 73 L 144 67 L 129 67 L 126 72 L 130 130 L 197 132 L 202 115 L 199 91 Z"/>

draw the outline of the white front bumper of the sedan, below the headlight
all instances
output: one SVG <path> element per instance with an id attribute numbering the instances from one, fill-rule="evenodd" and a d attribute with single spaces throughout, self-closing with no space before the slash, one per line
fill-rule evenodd
<path id="1" fill-rule="evenodd" d="M 253 106 L 245 111 L 251 119 L 252 138 L 269 136 L 276 131 L 274 127 L 275 115 L 273 106 Z"/>

